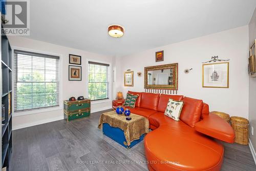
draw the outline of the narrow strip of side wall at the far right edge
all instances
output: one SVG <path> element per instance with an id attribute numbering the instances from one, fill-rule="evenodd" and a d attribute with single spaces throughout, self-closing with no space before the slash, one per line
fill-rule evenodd
<path id="1" fill-rule="evenodd" d="M 249 23 L 249 46 L 251 46 L 252 42 L 256 39 L 256 21 L 255 20 L 256 20 L 256 9 Z M 256 130 L 256 78 L 249 78 L 249 122 L 250 122 L 250 128 L 253 127 L 254 130 Z M 256 134 L 255 131 L 254 131 L 254 135 L 252 135 L 250 131 L 250 140 L 254 149 L 256 149 L 255 134 Z M 254 152 L 254 155 L 255 155 L 255 152 Z"/>

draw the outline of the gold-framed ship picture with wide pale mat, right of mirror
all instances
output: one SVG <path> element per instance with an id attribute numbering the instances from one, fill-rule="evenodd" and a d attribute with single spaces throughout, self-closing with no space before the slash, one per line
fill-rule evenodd
<path id="1" fill-rule="evenodd" d="M 203 87 L 228 88 L 229 63 L 203 64 Z"/>

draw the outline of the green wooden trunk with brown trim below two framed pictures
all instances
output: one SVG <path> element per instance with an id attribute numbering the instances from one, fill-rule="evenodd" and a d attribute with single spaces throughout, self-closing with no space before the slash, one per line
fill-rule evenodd
<path id="1" fill-rule="evenodd" d="M 67 119 L 67 122 L 89 117 L 90 113 L 90 99 L 64 101 L 64 118 Z"/>

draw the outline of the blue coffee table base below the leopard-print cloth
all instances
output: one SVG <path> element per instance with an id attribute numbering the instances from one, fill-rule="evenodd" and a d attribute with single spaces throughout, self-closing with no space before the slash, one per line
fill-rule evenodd
<path id="1" fill-rule="evenodd" d="M 132 148 L 133 146 L 141 142 L 145 137 L 145 134 L 143 134 L 142 136 L 140 136 L 140 139 L 134 140 L 130 146 L 127 146 L 122 129 L 112 127 L 108 123 L 103 123 L 102 132 L 105 136 L 108 136 L 109 138 L 116 141 L 117 143 L 119 143 L 120 145 L 124 146 L 127 149 Z"/>

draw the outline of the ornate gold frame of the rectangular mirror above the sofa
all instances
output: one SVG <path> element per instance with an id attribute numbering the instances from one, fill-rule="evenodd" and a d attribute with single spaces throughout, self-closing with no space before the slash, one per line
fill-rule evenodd
<path id="1" fill-rule="evenodd" d="M 147 72 L 152 70 L 162 70 L 162 69 L 173 69 L 173 85 L 148 85 Z M 145 89 L 178 90 L 178 63 L 145 67 L 144 68 L 144 88 Z"/>

